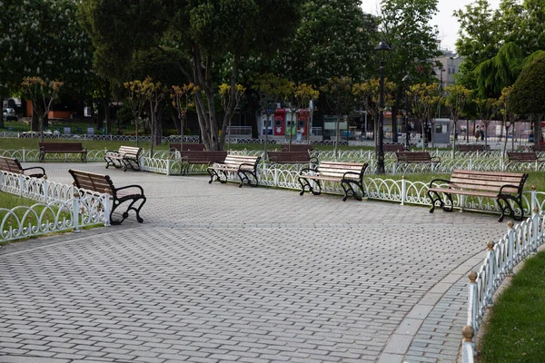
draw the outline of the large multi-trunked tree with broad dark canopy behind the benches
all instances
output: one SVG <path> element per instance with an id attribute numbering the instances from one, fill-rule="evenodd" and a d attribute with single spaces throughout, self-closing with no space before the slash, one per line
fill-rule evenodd
<path id="1" fill-rule="evenodd" d="M 82 14 L 97 47 L 97 69 L 117 79 L 137 50 L 180 49 L 185 62 L 178 66 L 186 82 L 199 87 L 195 110 L 203 142 L 210 150 L 221 150 L 219 130 L 233 117 L 235 105 L 229 103 L 220 125 L 216 87 L 223 80 L 218 69 L 230 59 L 229 99 L 235 100 L 241 58 L 276 51 L 295 30 L 301 1 L 84 0 Z"/>

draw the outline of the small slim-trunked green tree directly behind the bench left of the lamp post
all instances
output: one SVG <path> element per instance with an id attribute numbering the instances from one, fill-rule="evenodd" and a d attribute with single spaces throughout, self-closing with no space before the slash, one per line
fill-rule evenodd
<path id="1" fill-rule="evenodd" d="M 327 84 L 322 86 L 321 91 L 326 95 L 332 111 L 337 116 L 335 126 L 335 159 L 337 159 L 339 154 L 339 140 L 341 136 L 341 131 L 339 129 L 341 116 L 350 113 L 354 105 L 352 78 L 332 77 L 329 79 Z"/>

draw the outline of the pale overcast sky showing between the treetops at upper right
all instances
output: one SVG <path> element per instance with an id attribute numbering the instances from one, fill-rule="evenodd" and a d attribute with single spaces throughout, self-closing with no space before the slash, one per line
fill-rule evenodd
<path id="1" fill-rule="evenodd" d="M 441 48 L 454 51 L 454 43 L 458 38 L 458 21 L 452 16 L 454 10 L 465 8 L 465 5 L 471 4 L 472 0 L 439 0 L 439 14 L 432 20 L 433 25 L 438 26 L 439 37 L 441 39 Z M 489 0 L 492 8 L 497 8 L 500 0 Z M 380 0 L 362 0 L 362 9 L 366 13 L 378 15 L 380 13 Z"/>

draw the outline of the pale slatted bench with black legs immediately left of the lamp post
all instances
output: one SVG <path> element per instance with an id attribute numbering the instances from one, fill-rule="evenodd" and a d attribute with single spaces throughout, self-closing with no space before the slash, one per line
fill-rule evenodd
<path id="1" fill-rule="evenodd" d="M 365 196 L 363 173 L 367 169 L 367 165 L 367 162 L 320 162 L 318 167 L 314 169 L 305 168 L 299 174 L 299 183 L 301 184 L 299 194 L 304 194 L 305 189 L 308 188 L 312 194 L 319 195 L 322 193 L 321 182 L 340 182 L 344 191 L 342 201 L 346 201 L 349 193 L 358 201 L 362 201 L 362 197 Z M 316 185 L 316 188 L 312 186 L 311 181 Z M 360 189 L 361 196 L 358 195 L 354 186 Z"/>

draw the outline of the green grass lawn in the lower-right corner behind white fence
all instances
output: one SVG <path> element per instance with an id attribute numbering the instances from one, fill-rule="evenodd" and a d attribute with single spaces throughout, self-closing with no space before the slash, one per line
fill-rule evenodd
<path id="1" fill-rule="evenodd" d="M 482 363 L 545 361 L 545 252 L 527 260 L 490 310 Z"/>

